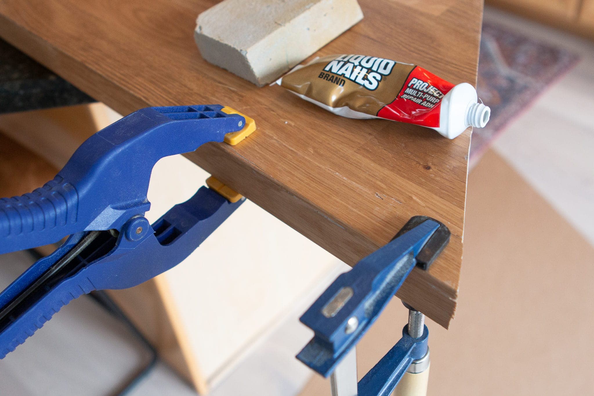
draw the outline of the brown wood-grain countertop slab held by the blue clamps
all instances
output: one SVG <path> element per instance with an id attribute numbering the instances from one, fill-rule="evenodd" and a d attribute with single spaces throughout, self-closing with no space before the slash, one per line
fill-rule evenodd
<path id="1" fill-rule="evenodd" d="M 417 3 L 360 1 L 364 20 L 315 55 L 382 56 L 475 84 L 482 2 Z M 214 4 L 4 0 L 0 36 L 122 114 L 222 103 L 251 116 L 258 130 L 248 140 L 207 144 L 188 157 L 350 265 L 412 216 L 443 221 L 450 245 L 428 273 L 413 271 L 398 296 L 448 327 L 462 261 L 470 131 L 449 141 L 419 126 L 340 118 L 207 64 L 192 31 Z"/>

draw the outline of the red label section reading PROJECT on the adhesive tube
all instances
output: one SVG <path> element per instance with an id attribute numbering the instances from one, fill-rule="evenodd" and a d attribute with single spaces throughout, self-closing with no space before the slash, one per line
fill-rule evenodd
<path id="1" fill-rule="evenodd" d="M 454 84 L 416 66 L 390 104 L 382 107 L 378 117 L 416 125 L 440 126 L 441 99 Z"/>

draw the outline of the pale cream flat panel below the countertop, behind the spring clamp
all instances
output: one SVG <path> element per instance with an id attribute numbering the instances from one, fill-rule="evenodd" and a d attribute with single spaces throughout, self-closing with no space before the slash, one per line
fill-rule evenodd
<path id="1" fill-rule="evenodd" d="M 209 175 L 182 156 L 153 169 L 147 218 L 191 197 Z M 198 364 L 211 381 L 303 304 L 339 260 L 251 201 L 166 273 Z"/>

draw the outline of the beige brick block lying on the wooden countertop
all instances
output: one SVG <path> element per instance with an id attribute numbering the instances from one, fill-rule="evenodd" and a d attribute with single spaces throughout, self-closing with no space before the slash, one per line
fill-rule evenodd
<path id="1" fill-rule="evenodd" d="M 206 61 L 261 86 L 363 18 L 356 0 L 224 0 L 198 15 Z"/>

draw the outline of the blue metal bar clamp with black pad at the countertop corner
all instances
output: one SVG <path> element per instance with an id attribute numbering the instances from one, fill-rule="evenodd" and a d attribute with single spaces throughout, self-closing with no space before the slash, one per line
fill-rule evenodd
<path id="1" fill-rule="evenodd" d="M 398 343 L 357 382 L 355 347 L 415 266 L 422 269 L 447 245 L 444 224 L 425 216 L 406 223 L 394 239 L 339 275 L 300 320 L 314 338 L 297 359 L 324 377 L 333 395 L 388 396 L 413 361 L 428 353 L 428 330 L 412 337 L 408 325 Z"/>

